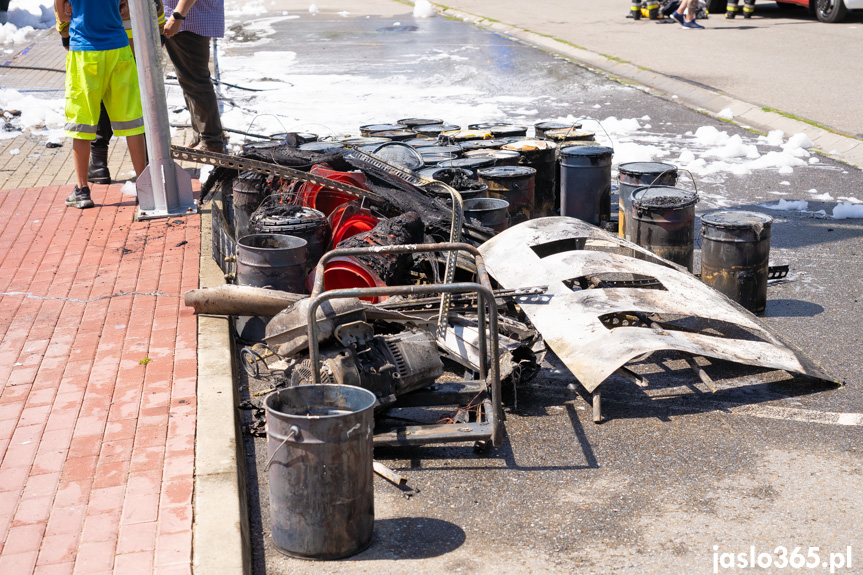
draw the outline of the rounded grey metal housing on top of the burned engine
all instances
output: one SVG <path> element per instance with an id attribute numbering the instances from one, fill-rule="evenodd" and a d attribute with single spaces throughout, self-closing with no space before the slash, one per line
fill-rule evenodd
<path id="1" fill-rule="evenodd" d="M 309 347 L 308 332 L 309 300 L 303 299 L 290 308 L 275 315 L 267 324 L 264 341 L 275 353 L 290 357 Z M 340 299 L 317 308 L 318 341 L 333 336 L 342 323 L 365 321 L 363 304 L 356 298 Z"/>

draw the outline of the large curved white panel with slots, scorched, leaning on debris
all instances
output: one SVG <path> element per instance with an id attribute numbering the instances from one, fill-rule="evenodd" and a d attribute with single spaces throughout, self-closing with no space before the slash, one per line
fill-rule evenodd
<path id="1" fill-rule="evenodd" d="M 518 305 L 589 392 L 630 360 L 663 349 L 836 382 L 755 316 L 684 268 L 581 220 L 531 220 L 493 238 L 480 252 L 504 287 L 548 282 L 548 293 L 519 298 Z M 525 269 L 532 271 L 526 274 Z M 582 289 L 578 281 L 608 274 L 655 280 L 661 289 Z M 618 321 L 633 312 L 664 318 L 659 322 L 662 329 Z"/>

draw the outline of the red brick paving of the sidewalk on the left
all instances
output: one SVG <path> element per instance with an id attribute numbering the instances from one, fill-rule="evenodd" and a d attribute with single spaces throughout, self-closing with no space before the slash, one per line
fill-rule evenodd
<path id="1" fill-rule="evenodd" d="M 200 218 L 119 190 L 0 191 L 4 575 L 191 573 Z"/>

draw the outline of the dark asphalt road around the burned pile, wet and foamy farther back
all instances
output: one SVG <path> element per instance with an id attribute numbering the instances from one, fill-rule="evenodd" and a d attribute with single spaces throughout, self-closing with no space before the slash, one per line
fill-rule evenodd
<path id="1" fill-rule="evenodd" d="M 299 3 L 289 4 L 299 13 Z M 331 4 L 333 12 L 321 3 L 314 17 L 304 14 L 273 25 L 278 50 L 296 53 L 291 68 L 296 85 L 301 76 L 318 82 L 322 98 L 330 97 L 327 87 L 346 74 L 361 73 L 399 93 L 434 78 L 431 86 L 421 84 L 432 94 L 452 94 L 458 86 L 466 92 L 448 103 L 450 121 L 502 119 L 498 114 L 516 123 L 567 114 L 641 118 L 635 132 L 612 134 L 620 149 L 626 143 L 654 146 L 672 163 L 684 150 L 707 151 L 692 135 L 705 126 L 738 135 L 762 154 L 772 149 L 733 125 L 462 22 L 414 20 L 409 7 L 396 3 L 352 6 L 347 15 L 337 14 L 341 8 Z M 490 9 L 515 3 L 483 4 Z M 539 17 L 553 4 L 523 9 L 521 16 Z M 387 10 L 384 17 L 376 11 L 381 7 Z M 614 10 L 620 26 L 661 28 L 624 21 L 624 12 L 622 5 Z M 558 17 L 585 23 L 595 15 Z M 695 34 L 663 29 L 672 32 Z M 696 51 L 676 46 L 690 55 Z M 229 48 L 236 55 L 243 50 L 236 44 Z M 466 60 L 422 57 L 456 51 Z M 420 57 L 408 65 L 398 56 L 406 53 Z M 348 84 L 339 83 L 338 98 L 356 116 L 357 128 L 425 116 L 432 105 L 433 97 L 418 101 L 422 106 L 408 114 L 409 103 L 394 98 L 391 116 L 372 117 L 365 80 L 357 82 L 356 92 Z M 494 117 L 484 115 L 490 100 L 496 102 Z M 517 105 L 508 104 L 516 100 Z M 320 109 L 308 107 L 310 114 Z M 380 114 L 380 108 L 373 112 Z M 307 121 L 320 124 L 326 118 Z M 840 552 L 852 554 L 854 568 L 835 572 L 855 572 L 863 561 L 863 418 L 857 417 L 863 413 L 861 223 L 816 213 L 831 213 L 836 201 L 814 200 L 818 194 L 810 190 L 833 198 L 854 196 L 860 193 L 861 173 L 822 159 L 792 174 L 719 171 L 695 180 L 702 197 L 698 215 L 741 208 L 774 216 L 771 260 L 789 264 L 791 274 L 769 288 L 764 320 L 845 387 L 713 362 L 705 369 L 719 388 L 714 394 L 674 354 L 658 353 L 632 366 L 648 378 L 648 388 L 615 378 L 604 384 L 608 421 L 595 425 L 587 399 L 568 388 L 571 376 L 552 365 L 520 391 L 518 410 L 507 409 L 500 448 L 485 454 L 470 445 L 377 450 L 376 458 L 408 476 L 411 494 L 376 479 L 372 545 L 337 562 L 290 559 L 274 549 L 267 484 L 259 473 L 266 458 L 263 442 L 249 440 L 251 476 L 261 480 L 252 486 L 251 511 L 260 520 L 252 534 L 255 572 L 700 574 L 735 572 L 720 567 L 728 560 L 723 554 L 748 555 L 750 548 L 781 561 L 779 547 L 788 554 L 800 547 L 803 555 L 819 555 L 818 565 L 799 572 L 828 573 L 829 554 Z M 761 205 L 780 198 L 810 200 L 809 209 L 776 211 Z"/>

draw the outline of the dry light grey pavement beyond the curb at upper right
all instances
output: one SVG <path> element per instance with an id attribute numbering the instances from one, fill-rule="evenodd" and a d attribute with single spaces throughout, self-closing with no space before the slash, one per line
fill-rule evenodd
<path id="1" fill-rule="evenodd" d="M 519 0 L 442 4 L 863 138 L 863 60 L 853 56 L 863 45 L 861 13 L 824 24 L 803 8 L 758 2 L 749 20 L 714 15 L 694 31 L 627 20 L 622 1 L 545 0 L 529 10 Z"/>

